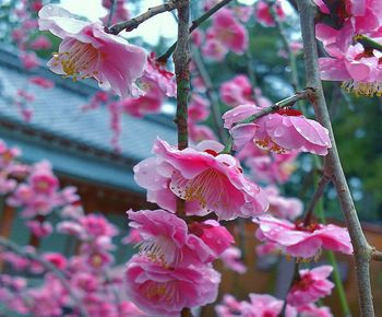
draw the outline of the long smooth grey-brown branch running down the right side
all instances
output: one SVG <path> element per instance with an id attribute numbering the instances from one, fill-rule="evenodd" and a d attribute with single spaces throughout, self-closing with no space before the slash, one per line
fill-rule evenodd
<path id="1" fill-rule="evenodd" d="M 314 89 L 311 98 L 314 113 L 318 120 L 329 130 L 330 138 L 332 141 L 332 149 L 329 149 L 329 154 L 326 156 L 326 172 L 336 188 L 341 209 L 344 213 L 346 225 L 349 231 L 349 235 L 354 247 L 356 274 L 358 282 L 358 295 L 361 312 L 360 316 L 373 317 L 374 307 L 370 286 L 369 268 L 372 248 L 370 247 L 363 235 L 357 215 L 357 211 L 344 175 L 320 80 L 320 72 L 318 67 L 319 59 L 314 35 L 314 16 L 317 9 L 310 0 L 297 0 L 297 4 L 300 12 L 302 42 L 306 57 L 305 63 L 307 86 Z"/>

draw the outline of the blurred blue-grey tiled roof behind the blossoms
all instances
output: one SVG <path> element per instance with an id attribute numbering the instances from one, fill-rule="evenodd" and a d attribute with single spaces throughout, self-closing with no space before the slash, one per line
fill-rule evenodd
<path id="1" fill-rule="evenodd" d="M 102 107 L 97 110 L 86 113 L 82 113 L 80 109 L 82 105 L 88 102 L 89 97 L 97 91 L 97 87 L 93 83 L 72 83 L 69 79 L 64 80 L 59 75 L 52 74 L 45 67 L 39 68 L 34 74 L 43 75 L 55 81 L 56 86 L 50 90 L 44 90 L 35 85 L 28 85 L 28 91 L 35 95 L 35 101 L 29 104 L 34 108 L 34 116 L 32 121 L 26 126 L 16 106 L 10 104 L 7 96 L 13 96 L 19 89 L 25 87 L 27 85 L 28 74 L 23 72 L 22 68 L 20 68 L 14 52 L 3 48 L 0 49 L 0 84 L 2 86 L 2 96 L 0 96 L 0 119 L 38 131 L 40 136 L 49 134 L 58 139 L 75 142 L 80 145 L 84 144 L 91 150 L 95 149 L 112 154 L 114 150 L 110 144 L 111 130 L 109 128 L 109 114 L 107 109 Z M 0 138 L 5 138 L 8 134 L 11 143 L 19 145 L 21 145 L 21 143 L 28 143 L 28 152 L 24 151 L 26 160 L 34 161 L 35 158 L 44 158 L 38 155 L 34 158 L 28 158 L 27 156 L 28 153 L 33 152 L 33 148 L 39 146 L 38 144 L 41 146 L 48 145 L 48 148 L 51 144 L 43 144 L 46 142 L 43 137 L 40 141 L 36 142 L 36 140 L 34 140 L 34 145 L 31 148 L 28 133 L 29 132 L 26 132 L 24 133 L 25 136 L 17 136 L 17 138 L 15 138 L 14 132 L 10 133 L 9 131 L 4 131 L 3 128 L 0 129 Z M 122 132 L 120 136 L 122 152 L 120 155 L 114 154 L 112 157 L 123 158 L 124 162 L 130 162 L 130 165 L 128 163 L 124 165 L 129 165 L 131 169 L 133 164 L 152 155 L 151 148 L 157 136 L 170 143 L 176 141 L 175 126 L 170 118 L 165 116 L 152 116 L 138 119 L 126 115 L 122 118 Z M 11 139 L 19 139 L 19 142 L 12 141 Z M 60 152 L 67 149 L 63 145 L 56 144 L 55 150 Z M 75 150 L 73 151 L 75 152 Z M 79 153 L 74 152 L 73 155 L 75 154 L 79 157 L 83 154 L 81 151 L 77 151 Z M 69 151 L 68 154 L 71 154 L 71 152 Z M 45 155 L 49 156 L 49 151 L 46 152 Z M 88 155 L 85 156 L 84 154 L 83 164 L 84 167 L 86 167 L 84 169 L 87 169 L 86 164 L 89 157 Z M 51 157 L 45 158 L 51 160 Z M 97 155 L 91 157 L 93 161 L 98 158 Z M 108 160 L 110 162 L 106 162 Z M 104 160 L 103 163 L 112 165 L 112 158 L 106 158 L 106 161 Z M 59 162 L 58 164 L 62 165 Z M 119 167 L 121 168 L 121 166 Z M 60 169 L 59 166 L 57 168 Z M 63 169 L 63 173 L 75 175 L 73 171 Z M 129 173 L 131 174 L 131 171 Z M 86 178 L 86 175 L 80 176 Z M 110 180 L 112 180 L 112 177 Z"/>

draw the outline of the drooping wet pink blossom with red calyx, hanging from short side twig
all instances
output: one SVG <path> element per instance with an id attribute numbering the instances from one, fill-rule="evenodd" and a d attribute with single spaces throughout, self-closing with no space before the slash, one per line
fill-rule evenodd
<path id="1" fill-rule="evenodd" d="M 224 114 L 225 128 L 230 129 L 236 149 L 253 140 L 259 146 L 277 153 L 300 150 L 326 155 L 332 146 L 327 129 L 298 110 L 280 109 L 254 122 L 234 126 L 260 110 L 254 105 L 241 105 Z"/>

